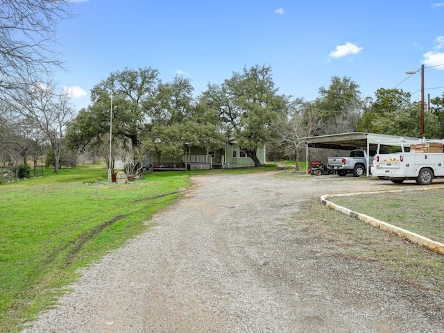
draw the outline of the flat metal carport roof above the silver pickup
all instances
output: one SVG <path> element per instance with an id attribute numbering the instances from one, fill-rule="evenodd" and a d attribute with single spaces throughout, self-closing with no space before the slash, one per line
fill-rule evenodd
<path id="1" fill-rule="evenodd" d="M 332 149 L 355 149 L 366 148 L 368 144 L 378 144 L 384 142 L 388 146 L 400 146 L 400 142 L 410 146 L 415 144 L 419 139 L 414 137 L 398 137 L 395 135 L 384 135 L 375 133 L 341 133 L 332 135 L 321 135 L 319 137 L 303 137 L 302 142 L 307 146 L 314 148 L 332 148 Z"/>

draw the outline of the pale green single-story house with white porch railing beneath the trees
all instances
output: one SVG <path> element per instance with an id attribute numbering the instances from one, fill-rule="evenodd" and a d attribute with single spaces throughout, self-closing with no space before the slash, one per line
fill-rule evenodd
<path id="1" fill-rule="evenodd" d="M 257 148 L 259 162 L 266 162 L 266 148 Z M 225 144 L 224 148 L 207 149 L 197 146 L 185 146 L 181 157 L 149 155 L 142 162 L 142 167 L 153 171 L 167 170 L 207 170 L 254 167 L 255 163 L 247 156 L 244 149 L 235 144 Z"/>

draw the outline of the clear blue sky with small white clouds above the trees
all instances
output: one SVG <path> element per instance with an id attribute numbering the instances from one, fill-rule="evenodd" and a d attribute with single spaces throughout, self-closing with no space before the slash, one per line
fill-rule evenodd
<path id="1" fill-rule="evenodd" d="M 428 0 L 73 0 L 58 51 L 76 110 L 113 71 L 153 67 L 190 78 L 197 96 L 244 67 L 268 65 L 281 94 L 307 101 L 332 76 L 361 96 L 397 87 L 420 100 L 444 92 L 444 2 Z"/>

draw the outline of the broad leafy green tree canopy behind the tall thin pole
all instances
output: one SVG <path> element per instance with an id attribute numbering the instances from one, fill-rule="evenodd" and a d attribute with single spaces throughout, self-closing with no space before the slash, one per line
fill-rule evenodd
<path id="1" fill-rule="evenodd" d="M 162 83 L 151 67 L 113 72 L 94 86 L 92 104 L 69 126 L 69 146 L 83 150 L 106 144 L 111 117 L 114 140 L 129 144 L 139 155 L 143 147 L 145 154 L 178 157 L 185 144 L 209 147 L 221 142 L 214 117 L 196 104 L 191 81 L 176 76 Z"/>

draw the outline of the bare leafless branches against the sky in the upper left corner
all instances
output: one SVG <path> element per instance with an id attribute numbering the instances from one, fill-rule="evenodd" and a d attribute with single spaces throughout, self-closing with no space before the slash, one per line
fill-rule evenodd
<path id="1" fill-rule="evenodd" d="M 70 0 L 0 0 L 0 99 L 41 80 L 54 66 L 56 26 L 72 17 Z"/>

